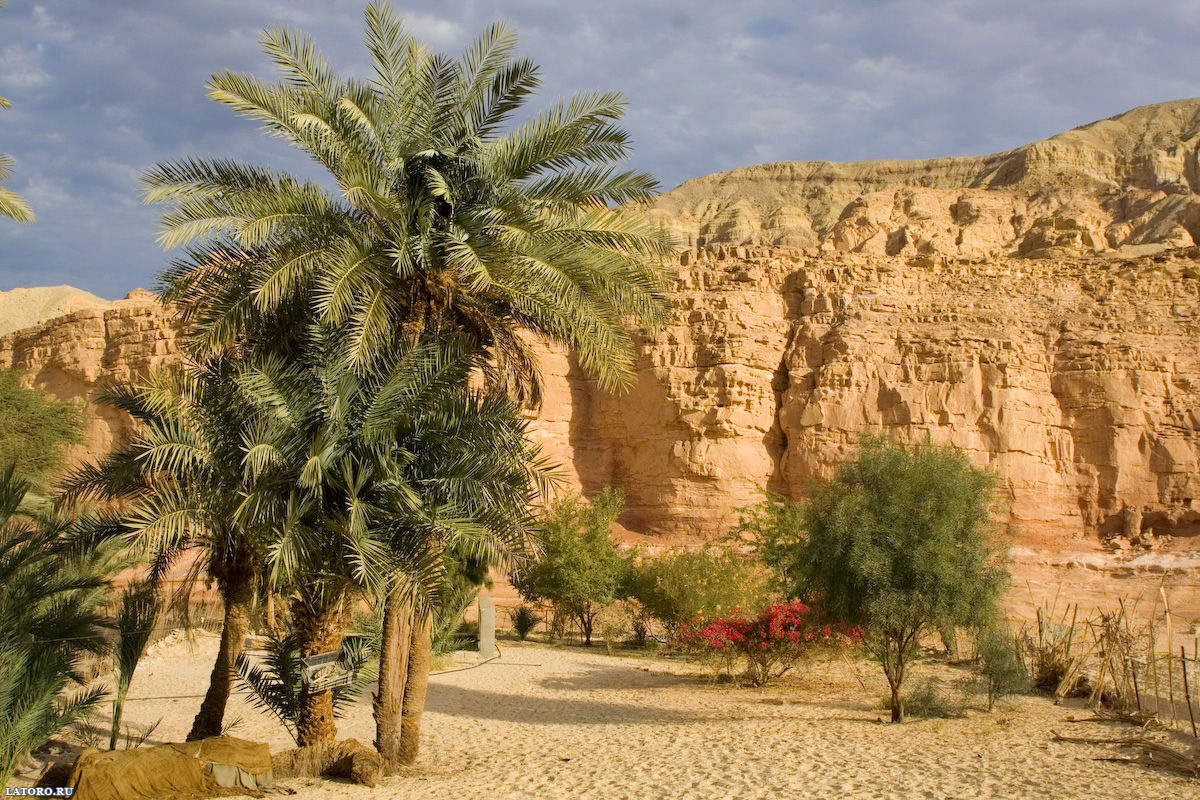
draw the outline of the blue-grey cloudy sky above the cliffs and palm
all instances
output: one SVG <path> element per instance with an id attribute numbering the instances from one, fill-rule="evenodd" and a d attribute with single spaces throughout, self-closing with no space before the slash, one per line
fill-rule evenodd
<path id="1" fill-rule="evenodd" d="M 269 76 L 257 35 L 311 32 L 366 74 L 365 0 L 8 0 L 0 11 L 0 152 L 34 225 L 0 221 L 0 290 L 71 283 L 115 297 L 168 254 L 138 175 L 220 155 L 307 169 L 205 97 L 221 70 Z M 1004 150 L 1142 103 L 1200 95 L 1200 0 L 413 0 L 457 52 L 509 20 L 542 67 L 538 103 L 619 89 L 634 164 L 671 188 L 784 160 Z"/>

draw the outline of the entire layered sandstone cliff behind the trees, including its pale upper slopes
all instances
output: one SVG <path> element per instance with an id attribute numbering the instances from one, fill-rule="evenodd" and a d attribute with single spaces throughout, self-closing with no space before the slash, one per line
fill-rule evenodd
<path id="1" fill-rule="evenodd" d="M 686 245 L 672 324 L 620 397 L 546 353 L 539 435 L 638 531 L 719 533 L 888 431 L 994 467 L 1028 547 L 1200 547 L 1198 152 L 1192 100 L 992 156 L 688 181 L 643 210 Z M 131 297 L 0 338 L 0 366 L 84 398 L 176 332 Z M 92 445 L 121 426 L 97 411 Z"/>

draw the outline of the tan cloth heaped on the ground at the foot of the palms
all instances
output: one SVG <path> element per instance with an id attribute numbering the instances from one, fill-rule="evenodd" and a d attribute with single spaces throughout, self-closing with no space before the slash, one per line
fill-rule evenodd
<path id="1" fill-rule="evenodd" d="M 233 736 L 79 753 L 71 772 L 78 800 L 198 800 L 274 787 L 271 752 Z"/>

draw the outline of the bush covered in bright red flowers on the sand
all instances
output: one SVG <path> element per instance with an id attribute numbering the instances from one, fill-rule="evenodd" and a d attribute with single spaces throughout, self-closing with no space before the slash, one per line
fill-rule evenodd
<path id="1" fill-rule="evenodd" d="M 745 680 L 752 686 L 782 675 L 815 645 L 854 637 L 854 631 L 823 622 L 799 600 L 773 603 L 756 616 L 733 612 L 684 625 L 676 644 L 733 674 L 745 662 Z"/>

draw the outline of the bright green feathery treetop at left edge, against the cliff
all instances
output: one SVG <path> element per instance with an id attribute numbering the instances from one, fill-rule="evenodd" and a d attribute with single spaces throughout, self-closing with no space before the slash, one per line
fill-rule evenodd
<path id="1" fill-rule="evenodd" d="M 83 444 L 83 413 L 19 380 L 18 371 L 0 369 L 0 464 L 41 487 L 62 467 L 67 445 Z"/>

